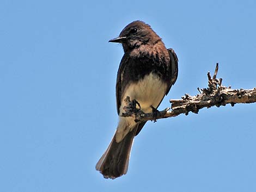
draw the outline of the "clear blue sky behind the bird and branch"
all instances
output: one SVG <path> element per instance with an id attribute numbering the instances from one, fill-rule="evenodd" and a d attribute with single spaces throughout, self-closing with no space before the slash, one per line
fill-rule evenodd
<path id="1" fill-rule="evenodd" d="M 256 104 L 148 122 L 127 175 L 95 164 L 117 125 L 126 24 L 151 25 L 179 57 L 163 100 L 197 94 L 220 63 L 224 85 L 256 86 L 255 1 L 0 2 L 0 191 L 256 191 Z"/>

